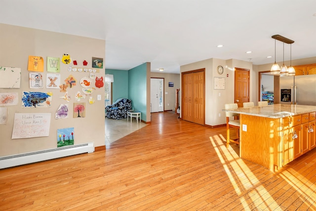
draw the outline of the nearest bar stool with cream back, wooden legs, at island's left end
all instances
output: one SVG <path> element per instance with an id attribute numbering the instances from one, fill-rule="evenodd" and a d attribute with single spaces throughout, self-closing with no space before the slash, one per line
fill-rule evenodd
<path id="1" fill-rule="evenodd" d="M 225 104 L 225 109 L 237 109 L 237 108 L 238 108 L 237 103 Z M 239 122 L 239 120 L 230 120 L 230 117 L 238 116 L 238 114 L 232 113 L 232 112 L 225 112 L 225 113 L 226 113 L 226 132 L 227 132 L 226 147 L 228 148 L 230 142 L 239 144 L 240 122 Z M 230 138 L 230 128 L 231 127 L 237 128 L 237 138 L 236 139 Z"/>

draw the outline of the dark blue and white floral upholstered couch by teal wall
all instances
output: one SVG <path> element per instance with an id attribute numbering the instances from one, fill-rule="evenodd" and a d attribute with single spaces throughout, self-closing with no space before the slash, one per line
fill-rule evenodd
<path id="1" fill-rule="evenodd" d="M 132 101 L 126 98 L 120 98 L 112 105 L 105 107 L 107 118 L 109 119 L 125 119 L 127 118 L 127 111 L 132 109 Z"/>

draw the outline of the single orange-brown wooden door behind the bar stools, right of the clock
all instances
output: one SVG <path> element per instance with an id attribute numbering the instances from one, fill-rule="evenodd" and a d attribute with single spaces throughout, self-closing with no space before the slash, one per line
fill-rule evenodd
<path id="1" fill-rule="evenodd" d="M 249 73 L 247 69 L 235 68 L 235 103 L 242 107 L 243 102 L 249 102 Z"/>

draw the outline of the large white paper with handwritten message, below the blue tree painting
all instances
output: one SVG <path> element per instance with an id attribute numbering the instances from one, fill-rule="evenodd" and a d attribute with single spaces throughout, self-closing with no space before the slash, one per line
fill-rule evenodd
<path id="1" fill-rule="evenodd" d="M 15 113 L 12 139 L 49 136 L 50 113 Z"/>

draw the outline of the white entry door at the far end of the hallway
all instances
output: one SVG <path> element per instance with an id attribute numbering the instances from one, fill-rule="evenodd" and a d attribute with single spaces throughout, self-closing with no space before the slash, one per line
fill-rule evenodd
<path id="1" fill-rule="evenodd" d="M 150 84 L 151 112 L 163 111 L 163 79 L 151 78 Z"/>

